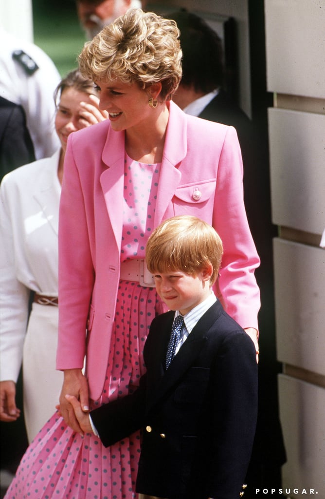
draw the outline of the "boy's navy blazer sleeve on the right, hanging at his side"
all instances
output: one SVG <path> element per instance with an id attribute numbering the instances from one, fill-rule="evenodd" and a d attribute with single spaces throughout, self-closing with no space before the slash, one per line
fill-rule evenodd
<path id="1" fill-rule="evenodd" d="M 257 418 L 255 348 L 246 333 L 223 341 L 213 369 L 213 440 L 209 497 L 238 497 L 244 484 Z"/>

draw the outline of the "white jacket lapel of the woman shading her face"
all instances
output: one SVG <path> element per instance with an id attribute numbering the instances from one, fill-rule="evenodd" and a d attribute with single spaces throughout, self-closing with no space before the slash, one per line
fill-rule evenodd
<path id="1" fill-rule="evenodd" d="M 55 234 L 58 234 L 60 199 L 60 186 L 57 178 L 57 168 L 59 163 L 60 150 L 56 151 L 51 158 L 46 158 L 46 164 L 41 171 L 33 198 L 39 205 L 44 218 Z"/>

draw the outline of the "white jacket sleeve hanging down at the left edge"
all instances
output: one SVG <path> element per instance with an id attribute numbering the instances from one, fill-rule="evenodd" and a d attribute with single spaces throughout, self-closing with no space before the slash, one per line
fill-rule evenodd
<path id="1" fill-rule="evenodd" d="M 29 289 L 16 277 L 13 226 L 11 212 L 15 193 L 10 174 L 0 186 L 0 381 L 17 381 L 28 320 Z"/>

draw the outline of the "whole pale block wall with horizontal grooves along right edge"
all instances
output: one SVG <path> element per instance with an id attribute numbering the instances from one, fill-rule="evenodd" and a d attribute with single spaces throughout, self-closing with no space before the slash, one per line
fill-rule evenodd
<path id="1" fill-rule="evenodd" d="M 325 498 L 325 0 L 265 0 L 265 19 L 283 487 Z"/>

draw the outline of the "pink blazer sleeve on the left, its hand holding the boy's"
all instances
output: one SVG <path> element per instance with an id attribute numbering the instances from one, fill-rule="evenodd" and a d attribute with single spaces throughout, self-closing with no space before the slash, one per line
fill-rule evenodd
<path id="1" fill-rule="evenodd" d="M 59 330 L 56 368 L 82 368 L 95 272 L 84 193 L 74 160 L 71 134 L 64 160 L 59 210 Z M 87 168 L 86 165 L 83 165 Z M 71 244 L 72 242 L 72 244 Z"/>

